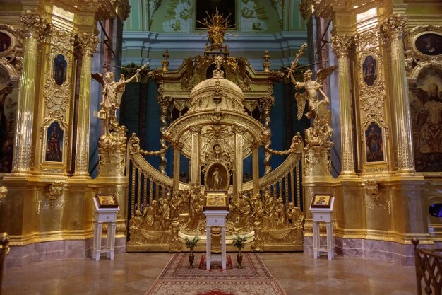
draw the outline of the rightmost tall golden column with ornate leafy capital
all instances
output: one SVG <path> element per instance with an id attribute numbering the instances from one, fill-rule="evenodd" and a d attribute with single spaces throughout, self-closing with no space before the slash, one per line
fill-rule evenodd
<path id="1" fill-rule="evenodd" d="M 395 120 L 396 166 L 400 173 L 412 173 L 414 154 L 412 146 L 412 127 L 410 122 L 410 101 L 407 91 L 404 45 L 402 37 L 406 32 L 407 18 L 400 14 L 390 16 L 383 22 L 383 33 L 390 42 L 391 59 L 391 102 Z"/>

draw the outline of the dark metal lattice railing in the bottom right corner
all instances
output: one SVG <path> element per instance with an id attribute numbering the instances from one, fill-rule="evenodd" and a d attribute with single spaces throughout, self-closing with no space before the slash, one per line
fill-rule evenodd
<path id="1" fill-rule="evenodd" d="M 441 295 L 442 291 L 442 249 L 419 249 L 419 239 L 413 238 L 414 263 L 416 267 L 417 294 Z"/>

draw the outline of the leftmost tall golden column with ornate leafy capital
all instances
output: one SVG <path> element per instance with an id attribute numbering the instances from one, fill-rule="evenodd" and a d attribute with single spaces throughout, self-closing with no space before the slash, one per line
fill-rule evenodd
<path id="1" fill-rule="evenodd" d="M 32 124 L 34 121 L 35 81 L 37 78 L 38 41 L 48 28 L 47 22 L 31 11 L 21 16 L 25 28 L 23 40 L 23 73 L 18 89 L 18 110 L 13 173 L 29 173 L 32 166 Z"/>

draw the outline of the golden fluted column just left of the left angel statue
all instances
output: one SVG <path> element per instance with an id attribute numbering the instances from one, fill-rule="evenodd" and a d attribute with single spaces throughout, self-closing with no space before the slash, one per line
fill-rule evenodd
<path id="1" fill-rule="evenodd" d="M 89 177 L 89 128 L 90 128 L 90 72 L 92 55 L 98 38 L 93 33 L 83 33 L 78 36 L 82 62 L 80 93 L 78 98 L 78 123 L 76 141 L 76 166 L 74 177 Z"/>

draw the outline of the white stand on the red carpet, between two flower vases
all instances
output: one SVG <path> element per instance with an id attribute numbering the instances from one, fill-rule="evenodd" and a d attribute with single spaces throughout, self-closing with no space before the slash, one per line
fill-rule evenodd
<path id="1" fill-rule="evenodd" d="M 226 269 L 226 216 L 228 213 L 227 210 L 204 211 L 206 219 L 205 232 L 207 235 L 207 244 L 205 246 L 205 265 L 207 270 L 210 270 L 210 262 L 212 261 L 221 261 L 222 270 Z M 210 228 L 212 226 L 221 227 L 221 254 L 212 254 L 212 240 L 210 238 Z"/>

